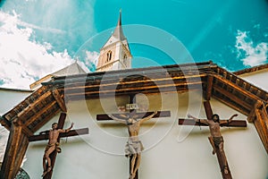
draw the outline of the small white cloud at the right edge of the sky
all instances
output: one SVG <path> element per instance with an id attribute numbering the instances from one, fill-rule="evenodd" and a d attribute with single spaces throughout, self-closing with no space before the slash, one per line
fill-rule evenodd
<path id="1" fill-rule="evenodd" d="M 247 31 L 238 30 L 236 40 L 236 47 L 238 50 L 238 57 L 242 57 L 244 65 L 255 66 L 258 64 L 264 64 L 268 56 L 268 44 L 261 42 L 257 45 L 253 40 L 248 37 Z"/>

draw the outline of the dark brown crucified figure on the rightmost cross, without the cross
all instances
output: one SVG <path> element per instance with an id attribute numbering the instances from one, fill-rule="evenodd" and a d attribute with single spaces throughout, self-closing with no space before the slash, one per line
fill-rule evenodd
<path id="1" fill-rule="evenodd" d="M 213 120 L 207 120 L 207 119 L 197 119 L 197 117 L 194 117 L 193 115 L 188 115 L 188 117 L 193 118 L 196 122 L 201 124 L 207 124 L 210 129 L 211 136 L 208 137 L 208 140 L 210 141 L 212 147 L 213 147 L 213 155 L 216 153 L 216 148 L 218 148 L 222 154 L 223 159 L 223 168 L 224 174 L 228 174 L 228 167 L 227 167 L 227 159 L 224 154 L 223 150 L 223 137 L 221 133 L 221 124 L 229 124 L 233 117 L 238 116 L 237 114 L 232 115 L 229 120 L 220 121 L 220 116 L 217 114 L 214 114 L 212 116 Z"/>

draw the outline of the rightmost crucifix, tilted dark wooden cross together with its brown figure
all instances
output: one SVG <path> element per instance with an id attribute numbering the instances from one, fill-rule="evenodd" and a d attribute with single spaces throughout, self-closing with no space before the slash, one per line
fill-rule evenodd
<path id="1" fill-rule="evenodd" d="M 227 158 L 223 150 L 223 138 L 220 132 L 220 128 L 222 126 L 247 127 L 247 122 L 241 120 L 232 120 L 232 118 L 237 115 L 232 115 L 229 120 L 220 120 L 219 115 L 213 114 L 209 101 L 205 101 L 204 106 L 207 119 L 197 119 L 197 117 L 188 115 L 188 117 L 192 119 L 179 119 L 179 124 L 209 126 L 211 136 L 208 137 L 208 140 L 210 141 L 213 147 L 213 154 L 217 155 L 218 162 L 222 172 L 222 178 L 231 179 L 232 177 L 230 175 L 230 168 L 228 166 Z"/>

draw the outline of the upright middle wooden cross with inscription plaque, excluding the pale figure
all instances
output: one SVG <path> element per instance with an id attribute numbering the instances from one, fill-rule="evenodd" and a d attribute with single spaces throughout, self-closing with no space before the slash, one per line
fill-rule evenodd
<path id="1" fill-rule="evenodd" d="M 130 96 L 130 104 L 128 104 L 126 106 L 126 108 L 128 108 L 130 110 L 130 112 L 123 113 L 124 116 L 133 117 L 135 115 L 136 118 L 142 119 L 142 118 L 146 118 L 146 117 L 154 114 L 154 112 L 137 113 L 138 106 L 135 103 L 134 96 L 132 96 L 132 95 Z M 113 114 L 114 117 L 118 117 L 118 118 L 121 118 L 121 115 L 122 114 Z M 156 117 L 169 117 L 169 116 L 171 116 L 171 112 L 170 111 L 157 111 L 157 113 L 154 116 L 152 116 L 152 118 L 156 118 Z M 113 120 L 113 118 L 111 118 L 109 115 L 96 115 L 96 120 L 97 121 Z M 133 155 L 130 156 L 130 174 L 131 174 L 132 158 L 133 158 Z M 137 165 L 137 164 L 135 164 L 135 165 Z M 135 176 L 134 176 L 133 179 L 138 179 L 138 170 L 137 170 L 137 172 L 134 175 Z"/>

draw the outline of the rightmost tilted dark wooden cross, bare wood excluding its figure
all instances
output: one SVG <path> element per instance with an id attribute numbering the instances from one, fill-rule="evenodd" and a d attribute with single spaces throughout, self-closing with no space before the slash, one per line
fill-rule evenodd
<path id="1" fill-rule="evenodd" d="M 212 111 L 212 108 L 210 106 L 209 101 L 205 101 L 204 106 L 205 106 L 205 115 L 207 117 L 207 120 L 213 120 L 212 119 L 213 111 Z M 202 121 L 202 119 L 198 119 L 197 121 L 193 120 L 193 119 L 179 119 L 179 125 L 208 126 L 208 124 L 200 123 L 200 121 Z M 241 121 L 241 120 L 232 120 L 230 123 L 229 123 L 229 120 L 221 120 L 221 123 L 222 123 L 221 127 L 222 126 L 247 127 L 247 122 L 246 121 Z M 212 142 L 214 142 L 214 141 L 212 141 Z M 215 149 L 215 153 L 217 154 L 218 163 L 219 163 L 220 168 L 221 168 L 222 178 L 223 179 L 231 179 L 232 177 L 230 175 L 230 168 L 228 166 L 227 158 L 225 156 L 224 150 L 222 149 L 222 151 L 221 151 L 220 148 L 217 145 L 214 145 L 214 149 Z M 224 169 L 228 170 L 227 174 L 224 172 Z"/>

